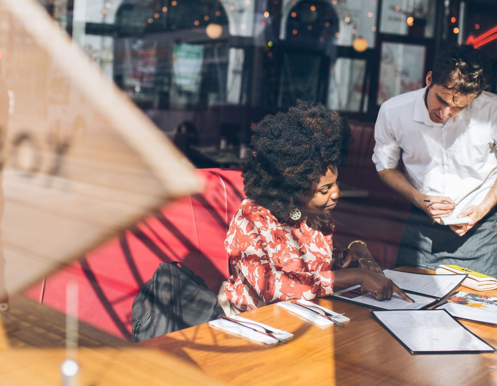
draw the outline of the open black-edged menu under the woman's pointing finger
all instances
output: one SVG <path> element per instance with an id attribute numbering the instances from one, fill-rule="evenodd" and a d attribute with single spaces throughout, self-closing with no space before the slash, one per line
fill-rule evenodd
<path id="1" fill-rule="evenodd" d="M 441 297 L 451 293 L 466 279 L 467 275 L 429 275 L 411 272 L 384 270 L 385 276 L 402 290 L 409 293 L 414 303 L 394 293 L 391 300 L 376 300 L 374 294 L 360 286 L 335 291 L 331 297 L 375 309 L 423 309 L 437 303 Z"/>

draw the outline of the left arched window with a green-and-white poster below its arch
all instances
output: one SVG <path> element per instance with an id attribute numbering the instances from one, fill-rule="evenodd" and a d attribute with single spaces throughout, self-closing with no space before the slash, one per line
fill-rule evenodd
<path id="1" fill-rule="evenodd" d="M 218 0 L 124 0 L 114 80 L 143 108 L 225 101 L 228 18 Z"/>

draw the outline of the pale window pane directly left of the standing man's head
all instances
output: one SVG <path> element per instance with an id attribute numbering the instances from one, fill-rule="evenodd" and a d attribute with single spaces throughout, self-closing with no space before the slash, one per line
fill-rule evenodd
<path id="1" fill-rule="evenodd" d="M 422 45 L 382 44 L 378 104 L 424 86 L 425 54 L 426 47 Z"/>

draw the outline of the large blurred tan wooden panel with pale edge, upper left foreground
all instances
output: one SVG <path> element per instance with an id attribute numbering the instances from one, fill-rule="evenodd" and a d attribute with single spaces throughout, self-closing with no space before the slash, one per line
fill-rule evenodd
<path id="1" fill-rule="evenodd" d="M 199 182 L 39 4 L 1 0 L 0 23 L 1 302 Z"/>

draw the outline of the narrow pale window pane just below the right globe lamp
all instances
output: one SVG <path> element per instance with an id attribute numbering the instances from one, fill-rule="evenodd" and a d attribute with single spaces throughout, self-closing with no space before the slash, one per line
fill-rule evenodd
<path id="1" fill-rule="evenodd" d="M 338 58 L 330 67 L 328 107 L 343 111 L 361 111 L 365 73 L 365 60 Z M 367 106 L 367 96 L 364 106 Z"/>

